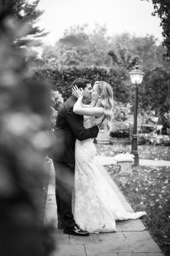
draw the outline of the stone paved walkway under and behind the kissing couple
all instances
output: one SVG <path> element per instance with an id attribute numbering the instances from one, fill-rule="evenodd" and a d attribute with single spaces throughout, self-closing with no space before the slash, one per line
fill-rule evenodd
<path id="1" fill-rule="evenodd" d="M 132 207 L 126 201 L 122 192 L 111 179 L 103 165 L 113 163 L 112 157 L 96 157 L 95 162 L 100 173 L 119 197 L 125 209 L 133 212 Z M 158 164 L 159 161 L 140 160 L 140 164 Z M 170 161 L 168 165 L 170 166 Z M 142 164 L 143 163 L 143 164 Z M 159 163 L 160 164 L 160 163 Z M 163 164 L 163 163 L 162 163 Z M 140 219 L 116 221 L 118 232 L 90 234 L 88 237 L 78 237 L 63 234 L 57 229 L 57 207 L 55 201 L 55 173 L 51 167 L 48 196 L 45 207 L 44 222 L 54 219 L 56 230 L 53 236 L 56 238 L 56 250 L 51 256 L 163 256 L 156 242 L 147 232 Z"/>

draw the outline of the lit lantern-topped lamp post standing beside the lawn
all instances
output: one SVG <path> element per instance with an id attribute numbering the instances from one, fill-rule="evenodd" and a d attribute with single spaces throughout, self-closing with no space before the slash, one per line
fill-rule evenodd
<path id="1" fill-rule="evenodd" d="M 133 136 L 132 136 L 132 151 L 131 154 L 134 154 L 134 165 L 139 165 L 139 155 L 138 155 L 138 135 L 137 135 L 137 111 L 138 111 L 138 85 L 142 83 L 144 72 L 139 70 L 139 65 L 136 62 L 135 69 L 129 72 L 130 80 L 132 84 L 135 85 L 135 102 L 134 102 L 134 126 L 133 126 Z"/>

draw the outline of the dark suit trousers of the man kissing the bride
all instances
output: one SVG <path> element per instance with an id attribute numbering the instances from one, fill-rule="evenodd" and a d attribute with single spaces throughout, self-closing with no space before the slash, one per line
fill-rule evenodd
<path id="1" fill-rule="evenodd" d="M 74 188 L 74 163 L 64 163 L 53 160 L 56 176 L 56 203 L 58 221 L 65 228 L 75 225 L 72 213 L 72 192 Z"/>

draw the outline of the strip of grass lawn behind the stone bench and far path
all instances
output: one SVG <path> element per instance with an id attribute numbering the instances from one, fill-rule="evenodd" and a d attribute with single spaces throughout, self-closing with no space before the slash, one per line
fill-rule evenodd
<path id="1" fill-rule="evenodd" d="M 114 156 L 113 146 L 111 144 L 95 144 L 97 155 Z M 128 145 L 128 152 L 131 151 L 131 145 Z M 152 160 L 170 160 L 170 147 L 138 145 L 138 153 L 140 159 Z"/>

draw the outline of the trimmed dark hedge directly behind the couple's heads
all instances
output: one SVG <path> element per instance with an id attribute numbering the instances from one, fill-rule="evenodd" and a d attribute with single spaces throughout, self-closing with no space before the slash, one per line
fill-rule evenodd
<path id="1" fill-rule="evenodd" d="M 51 89 L 58 90 L 62 94 L 64 101 L 72 94 L 71 84 L 76 78 L 86 78 L 94 84 L 95 81 L 106 81 L 111 84 L 116 101 L 127 103 L 132 91 L 130 81 L 127 83 L 126 70 L 121 68 L 107 69 L 104 67 L 67 67 L 61 69 L 38 69 L 31 79 L 48 79 L 51 82 Z"/>

